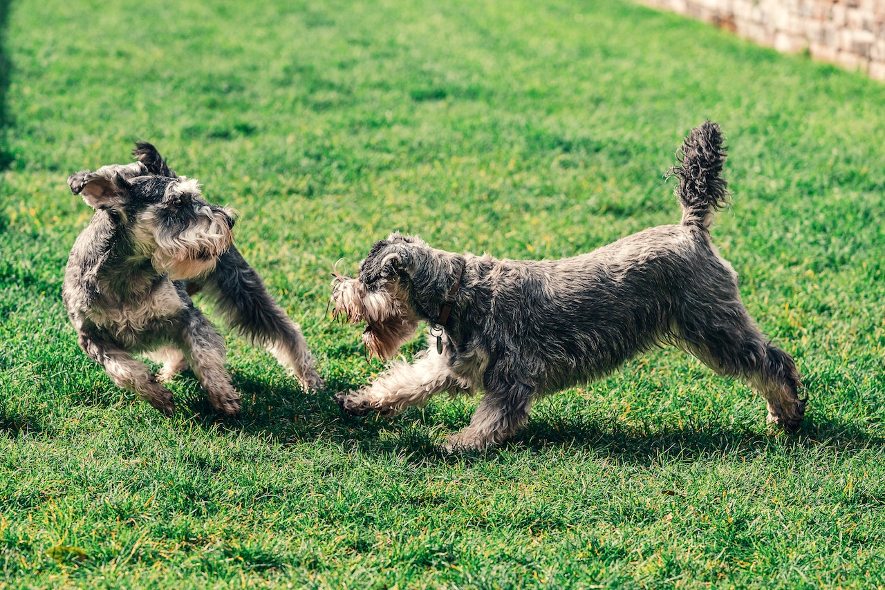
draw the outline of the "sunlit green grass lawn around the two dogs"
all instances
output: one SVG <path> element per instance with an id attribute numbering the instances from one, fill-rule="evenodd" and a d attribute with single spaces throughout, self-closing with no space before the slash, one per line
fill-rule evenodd
<path id="1" fill-rule="evenodd" d="M 0 588 L 885 586 L 885 85 L 614 0 L 6 0 L 0 26 Z M 339 258 L 673 223 L 662 174 L 707 118 L 735 190 L 714 241 L 804 373 L 797 435 L 665 349 L 447 456 L 475 400 L 344 417 L 233 336 L 242 417 L 189 375 L 168 420 L 60 301 L 90 214 L 67 175 L 149 140 L 241 211 L 330 392 L 357 387 L 383 365 L 327 317 Z"/>

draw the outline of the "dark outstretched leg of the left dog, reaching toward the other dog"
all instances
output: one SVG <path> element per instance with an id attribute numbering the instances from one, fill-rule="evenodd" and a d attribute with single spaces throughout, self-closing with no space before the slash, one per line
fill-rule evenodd
<path id="1" fill-rule="evenodd" d="M 258 272 L 237 249 L 231 247 L 219 258 L 213 272 L 189 284 L 189 291 L 192 287 L 202 289 L 215 300 L 229 326 L 266 347 L 304 387 L 313 390 L 323 387 L 301 328 L 267 292 Z"/>

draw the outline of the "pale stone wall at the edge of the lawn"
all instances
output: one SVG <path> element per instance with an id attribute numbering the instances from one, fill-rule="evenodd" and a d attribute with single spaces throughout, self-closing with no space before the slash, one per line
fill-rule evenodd
<path id="1" fill-rule="evenodd" d="M 885 0 L 639 0 L 885 80 Z"/>

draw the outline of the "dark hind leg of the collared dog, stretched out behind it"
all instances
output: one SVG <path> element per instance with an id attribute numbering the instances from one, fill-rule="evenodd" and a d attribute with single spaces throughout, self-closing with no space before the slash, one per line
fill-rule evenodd
<path id="1" fill-rule="evenodd" d="M 714 371 L 743 378 L 765 398 L 768 421 L 795 431 L 805 413 L 806 399 L 793 359 L 761 333 L 740 302 L 705 307 L 701 314 L 683 319 L 680 337 L 684 348 Z"/>

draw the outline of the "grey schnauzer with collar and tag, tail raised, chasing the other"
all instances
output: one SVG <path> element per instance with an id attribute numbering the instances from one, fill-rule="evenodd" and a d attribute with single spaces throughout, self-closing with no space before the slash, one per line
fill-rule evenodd
<path id="1" fill-rule="evenodd" d="M 670 172 L 679 178 L 681 225 L 650 227 L 578 257 L 453 254 L 398 233 L 376 242 L 358 278 L 336 277 L 333 315 L 365 321 L 363 341 L 375 356 L 396 353 L 419 320 L 430 325 L 431 345 L 336 401 L 350 414 L 389 416 L 444 390 L 483 390 L 470 425 L 447 448 L 485 448 L 517 432 L 540 395 L 672 343 L 744 379 L 765 398 L 770 422 L 796 429 L 806 402 L 796 365 L 750 318 L 737 274 L 711 241 L 714 213 L 728 197 L 719 126 L 692 129 L 679 160 Z"/>

